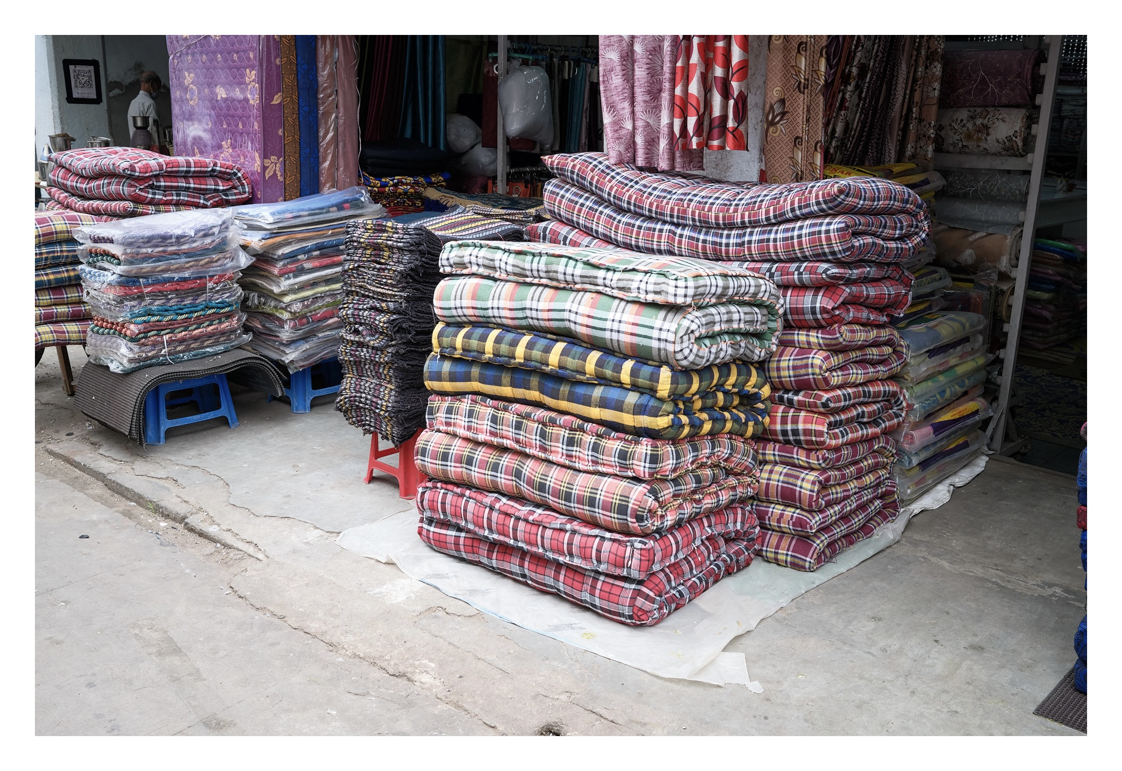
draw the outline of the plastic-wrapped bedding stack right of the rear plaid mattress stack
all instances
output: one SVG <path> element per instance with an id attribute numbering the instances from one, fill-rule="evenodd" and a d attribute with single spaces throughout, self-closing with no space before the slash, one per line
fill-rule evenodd
<path id="1" fill-rule="evenodd" d="M 983 395 L 990 361 L 986 319 L 967 311 L 923 313 L 895 324 L 905 366 L 904 420 L 894 476 L 900 499 L 910 502 L 976 458 L 981 423 L 992 414 Z"/>

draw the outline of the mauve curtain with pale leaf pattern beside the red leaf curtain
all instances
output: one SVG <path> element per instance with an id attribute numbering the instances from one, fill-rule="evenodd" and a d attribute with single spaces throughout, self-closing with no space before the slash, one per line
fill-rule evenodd
<path id="1" fill-rule="evenodd" d="M 600 35 L 604 150 L 611 163 L 700 171 L 700 149 L 677 147 L 677 35 Z M 560 100 L 559 100 L 560 101 Z"/>

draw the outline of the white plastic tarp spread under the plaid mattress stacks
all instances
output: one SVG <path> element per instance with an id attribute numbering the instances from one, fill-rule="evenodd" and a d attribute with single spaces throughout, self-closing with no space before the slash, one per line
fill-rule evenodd
<path id="1" fill-rule="evenodd" d="M 985 463 L 985 456 L 971 461 L 903 507 L 894 522 L 815 572 L 757 559 L 655 626 L 625 626 L 557 595 L 431 549 L 417 535 L 415 512 L 351 527 L 340 533 L 338 543 L 365 557 L 393 562 L 405 575 L 484 613 L 652 674 L 720 686 L 745 685 L 760 692 L 763 688 L 751 681 L 744 654 L 725 653 L 725 645 L 799 595 L 888 549 L 900 540 L 909 518 L 945 504 L 951 490 L 981 474 Z"/>

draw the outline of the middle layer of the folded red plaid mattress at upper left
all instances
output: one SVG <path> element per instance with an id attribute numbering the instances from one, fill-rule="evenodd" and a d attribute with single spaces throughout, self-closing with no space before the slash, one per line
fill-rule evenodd
<path id="1" fill-rule="evenodd" d="M 50 169 L 50 183 L 76 196 L 98 201 L 183 205 L 199 209 L 231 206 L 250 199 L 249 181 L 213 176 L 82 176 L 62 166 Z"/>

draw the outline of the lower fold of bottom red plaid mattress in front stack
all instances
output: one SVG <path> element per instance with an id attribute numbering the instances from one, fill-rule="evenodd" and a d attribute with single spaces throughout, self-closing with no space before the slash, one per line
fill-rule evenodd
<path id="1" fill-rule="evenodd" d="M 427 517 L 422 517 L 417 532 L 436 551 L 561 595 L 601 616 L 633 626 L 657 624 L 725 576 L 751 565 L 756 549 L 755 539 L 726 541 L 708 535 L 682 559 L 636 581 L 554 562 Z"/>

